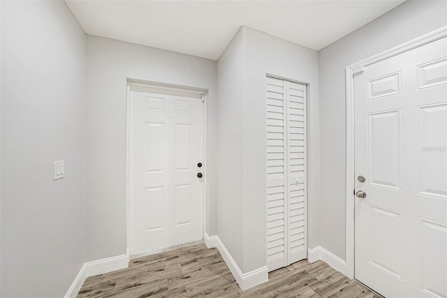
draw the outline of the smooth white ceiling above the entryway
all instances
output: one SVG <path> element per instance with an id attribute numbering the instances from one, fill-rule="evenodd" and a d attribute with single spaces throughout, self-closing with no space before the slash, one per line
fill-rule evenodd
<path id="1" fill-rule="evenodd" d="M 219 59 L 241 25 L 321 50 L 404 0 L 66 0 L 86 33 Z"/>

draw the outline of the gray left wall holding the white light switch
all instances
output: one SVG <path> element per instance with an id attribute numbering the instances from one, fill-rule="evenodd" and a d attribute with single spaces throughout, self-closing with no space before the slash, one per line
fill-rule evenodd
<path id="1" fill-rule="evenodd" d="M 63 297 L 84 265 L 85 46 L 64 1 L 1 1 L 1 297 Z"/>

